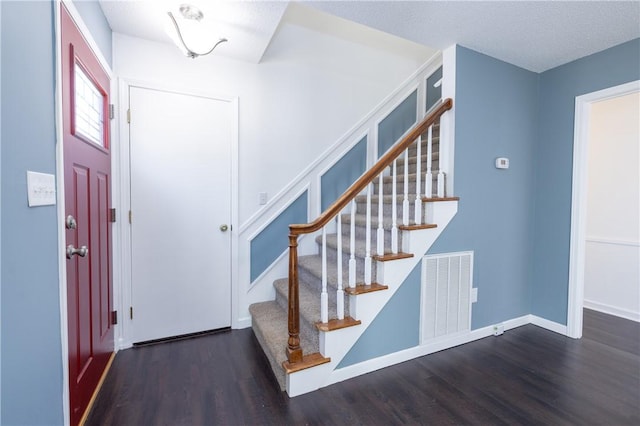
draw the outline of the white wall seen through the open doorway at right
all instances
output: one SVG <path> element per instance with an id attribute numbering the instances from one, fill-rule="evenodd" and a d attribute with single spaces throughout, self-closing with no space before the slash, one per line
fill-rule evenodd
<path id="1" fill-rule="evenodd" d="M 593 104 L 584 306 L 640 321 L 640 93 Z"/>

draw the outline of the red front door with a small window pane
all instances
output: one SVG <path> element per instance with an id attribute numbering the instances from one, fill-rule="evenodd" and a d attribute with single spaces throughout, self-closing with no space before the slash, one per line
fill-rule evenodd
<path id="1" fill-rule="evenodd" d="M 71 424 L 111 354 L 109 77 L 61 3 Z"/>

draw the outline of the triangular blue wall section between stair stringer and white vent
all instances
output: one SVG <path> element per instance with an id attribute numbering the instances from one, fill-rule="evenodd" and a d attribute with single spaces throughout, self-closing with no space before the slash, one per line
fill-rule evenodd
<path id="1" fill-rule="evenodd" d="M 421 276 L 422 262 L 418 262 L 337 368 L 418 346 Z"/>

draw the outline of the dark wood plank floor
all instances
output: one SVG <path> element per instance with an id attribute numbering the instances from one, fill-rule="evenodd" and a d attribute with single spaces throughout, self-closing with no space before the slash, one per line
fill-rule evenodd
<path id="1" fill-rule="evenodd" d="M 640 425 L 640 324 L 527 325 L 310 394 L 278 390 L 251 329 L 120 351 L 87 425 Z"/>

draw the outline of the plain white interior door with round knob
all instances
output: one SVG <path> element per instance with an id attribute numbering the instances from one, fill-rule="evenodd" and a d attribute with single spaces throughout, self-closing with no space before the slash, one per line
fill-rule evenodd
<path id="1" fill-rule="evenodd" d="M 129 107 L 133 342 L 228 327 L 232 105 L 131 86 Z"/>

